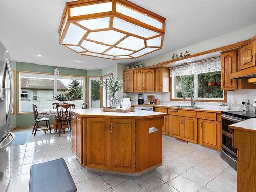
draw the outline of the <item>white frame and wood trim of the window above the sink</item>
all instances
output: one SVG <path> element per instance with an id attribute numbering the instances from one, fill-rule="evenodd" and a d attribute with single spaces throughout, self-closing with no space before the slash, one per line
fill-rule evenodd
<path id="1" fill-rule="evenodd" d="M 201 73 L 200 73 L 201 74 Z M 170 101 L 191 101 L 191 98 L 186 97 L 185 99 L 175 97 L 176 78 L 170 77 Z M 194 74 L 194 97 L 193 100 L 198 102 L 227 102 L 227 91 L 223 91 L 222 98 L 199 98 L 198 96 L 198 74 Z"/>

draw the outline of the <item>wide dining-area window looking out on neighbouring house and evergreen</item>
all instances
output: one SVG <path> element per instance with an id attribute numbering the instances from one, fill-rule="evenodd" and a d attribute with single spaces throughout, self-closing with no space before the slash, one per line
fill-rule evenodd
<path id="1" fill-rule="evenodd" d="M 19 113 L 33 112 L 32 104 L 37 109 L 51 109 L 55 97 L 63 94 L 68 104 L 82 108 L 84 102 L 84 77 L 54 76 L 51 74 L 19 73 Z M 72 83 L 77 82 L 75 86 Z M 78 96 L 76 92 L 79 92 Z M 75 96 L 76 97 L 75 97 Z"/>

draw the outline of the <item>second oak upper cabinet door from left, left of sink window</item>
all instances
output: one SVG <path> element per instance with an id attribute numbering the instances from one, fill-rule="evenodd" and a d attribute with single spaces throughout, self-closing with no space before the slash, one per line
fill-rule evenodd
<path id="1" fill-rule="evenodd" d="M 144 69 L 134 69 L 133 71 L 133 92 L 144 92 Z"/>

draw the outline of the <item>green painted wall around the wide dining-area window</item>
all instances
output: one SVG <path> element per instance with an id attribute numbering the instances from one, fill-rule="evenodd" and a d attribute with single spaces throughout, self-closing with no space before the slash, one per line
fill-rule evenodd
<path id="1" fill-rule="evenodd" d="M 25 62 L 11 62 L 12 69 L 17 71 L 28 71 L 28 72 L 40 72 L 40 73 L 53 73 L 55 69 L 54 66 L 46 66 L 46 65 L 37 65 L 33 63 L 25 63 Z M 87 72 L 89 74 L 97 74 L 101 75 L 102 70 L 82 70 L 82 69 L 73 69 L 73 68 L 63 68 L 58 67 L 60 74 L 63 75 L 80 75 L 80 76 L 87 76 Z M 93 72 L 90 72 L 93 71 Z M 16 76 L 17 77 L 17 76 Z M 25 126 L 33 126 L 34 125 L 34 116 L 33 114 L 17 114 L 17 78 L 16 78 L 16 86 L 15 86 L 15 108 L 16 108 L 16 115 L 12 115 L 11 117 L 11 127 L 25 127 Z M 53 123 L 53 119 L 51 119 L 51 124 Z"/>

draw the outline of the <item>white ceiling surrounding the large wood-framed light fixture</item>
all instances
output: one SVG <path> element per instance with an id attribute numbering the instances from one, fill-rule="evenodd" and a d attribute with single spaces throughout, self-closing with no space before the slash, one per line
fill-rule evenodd
<path id="1" fill-rule="evenodd" d="M 109 60 L 82 56 L 59 45 L 58 27 L 65 2 L 0 1 L 0 41 L 10 51 L 12 60 L 103 69 L 116 62 L 148 59 L 256 23 L 255 0 L 131 0 L 167 19 L 163 49 L 136 60 Z M 38 53 L 43 56 L 36 56 Z"/>

